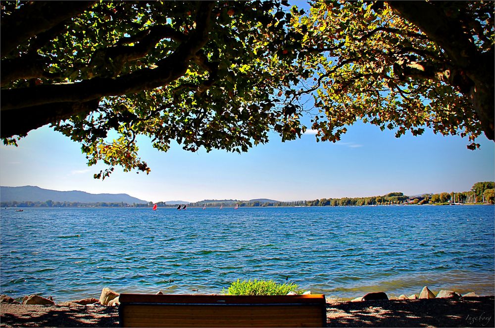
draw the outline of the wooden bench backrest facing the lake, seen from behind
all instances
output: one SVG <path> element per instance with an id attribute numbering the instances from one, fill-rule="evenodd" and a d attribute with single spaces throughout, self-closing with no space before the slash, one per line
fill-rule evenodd
<path id="1" fill-rule="evenodd" d="M 121 327 L 325 327 L 325 295 L 120 294 Z"/>

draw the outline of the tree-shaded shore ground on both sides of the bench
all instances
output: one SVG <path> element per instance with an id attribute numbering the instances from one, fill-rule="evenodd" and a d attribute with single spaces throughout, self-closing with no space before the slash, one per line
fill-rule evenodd
<path id="1" fill-rule="evenodd" d="M 1 304 L 1 327 L 118 327 L 113 306 Z M 494 296 L 327 302 L 327 327 L 494 327 Z"/>

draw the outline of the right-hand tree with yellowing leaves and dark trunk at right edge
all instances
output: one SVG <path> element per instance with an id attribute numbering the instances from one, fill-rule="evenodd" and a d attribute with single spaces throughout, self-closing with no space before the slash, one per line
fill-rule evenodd
<path id="1" fill-rule="evenodd" d="M 493 1 L 321 1 L 294 23 L 314 71 L 312 128 L 337 141 L 357 120 L 494 140 Z"/>

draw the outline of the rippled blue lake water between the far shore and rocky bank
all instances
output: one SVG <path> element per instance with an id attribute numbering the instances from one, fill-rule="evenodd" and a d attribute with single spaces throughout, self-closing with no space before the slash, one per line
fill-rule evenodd
<path id="1" fill-rule="evenodd" d="M 494 206 L 1 209 L 0 289 L 55 301 L 221 293 L 237 279 L 342 299 L 494 294 Z M 197 289 L 195 291 L 193 289 Z"/>

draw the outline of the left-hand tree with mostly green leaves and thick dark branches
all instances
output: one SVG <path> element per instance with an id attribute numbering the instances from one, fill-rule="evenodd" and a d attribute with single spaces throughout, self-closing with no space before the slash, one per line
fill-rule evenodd
<path id="1" fill-rule="evenodd" d="M 274 97 L 289 77 L 272 76 L 295 56 L 283 49 L 284 5 L 2 1 L 1 137 L 12 144 L 51 124 L 89 165 L 110 166 L 99 178 L 115 165 L 149 172 L 140 134 L 162 151 L 171 140 L 247 151 L 270 129 L 294 139 L 298 117 Z"/>

